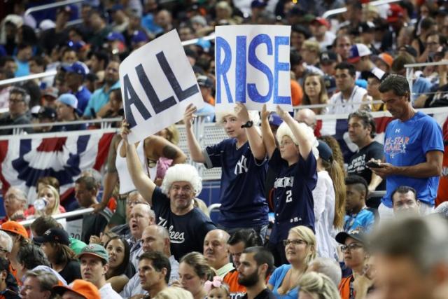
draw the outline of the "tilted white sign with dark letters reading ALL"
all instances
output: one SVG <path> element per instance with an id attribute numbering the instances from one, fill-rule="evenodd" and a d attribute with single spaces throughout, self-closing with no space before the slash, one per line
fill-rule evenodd
<path id="1" fill-rule="evenodd" d="M 172 30 L 135 50 L 120 64 L 125 118 L 132 143 L 178 122 L 188 104 L 204 106 L 195 74 Z"/>

